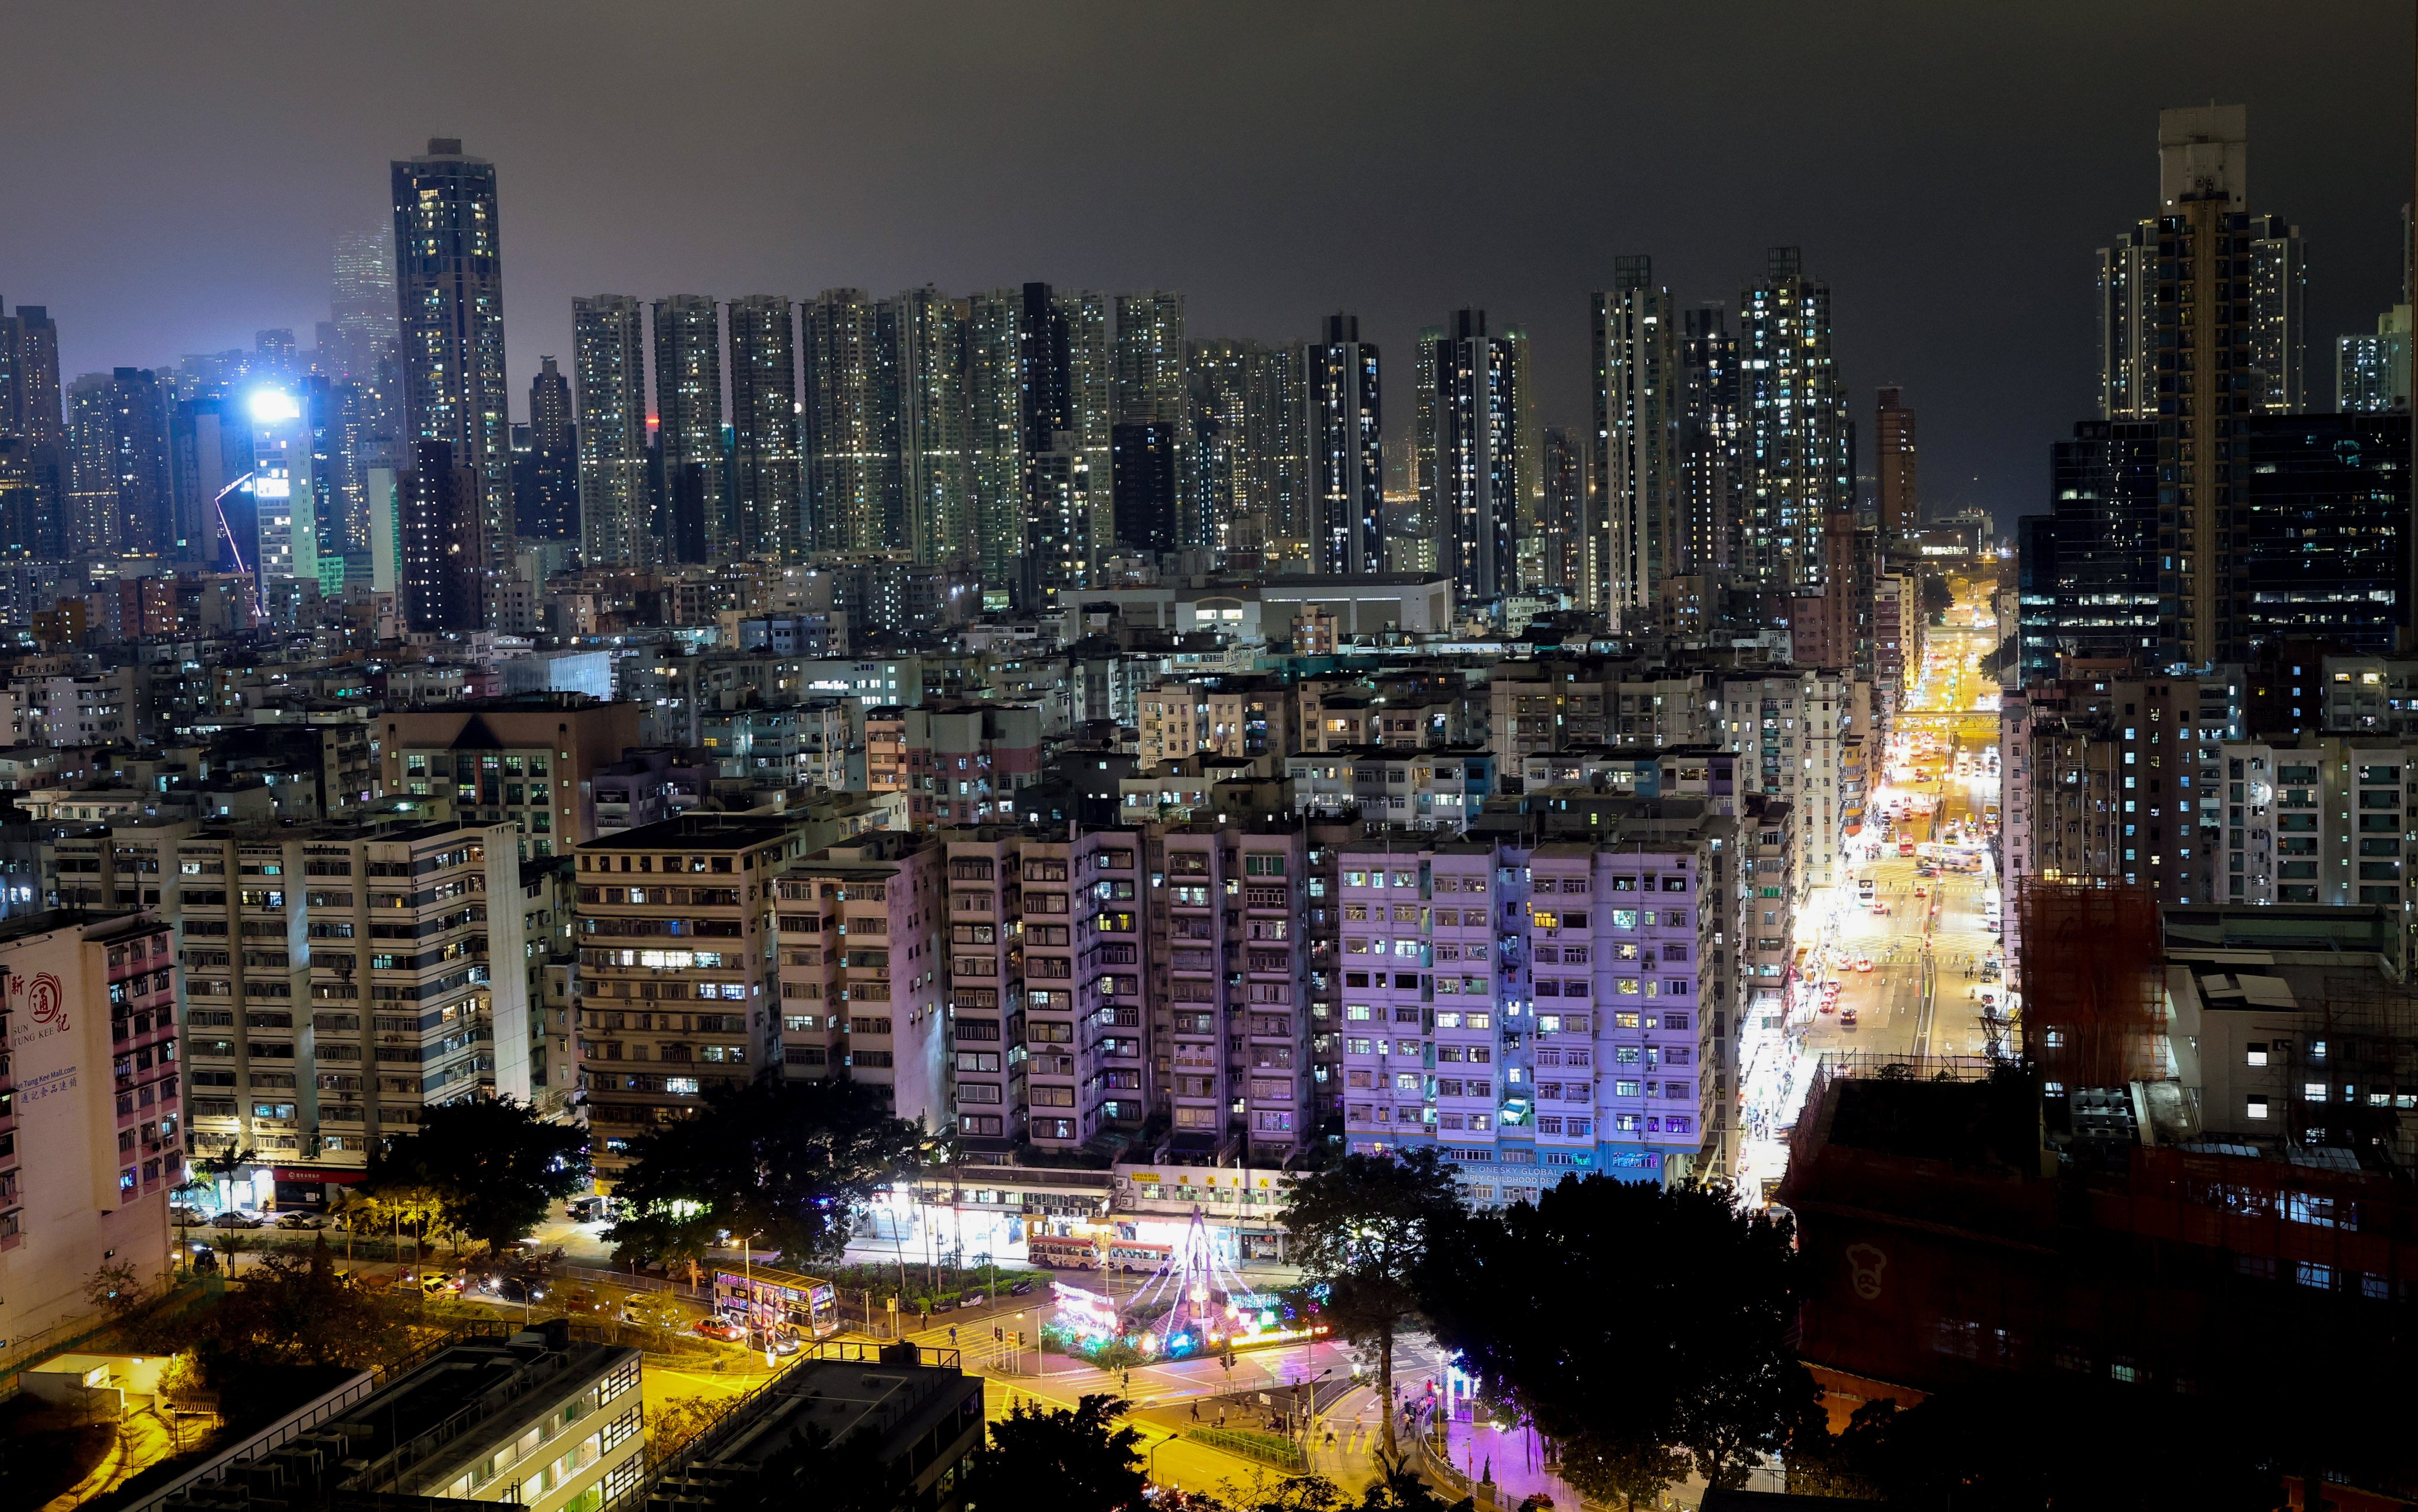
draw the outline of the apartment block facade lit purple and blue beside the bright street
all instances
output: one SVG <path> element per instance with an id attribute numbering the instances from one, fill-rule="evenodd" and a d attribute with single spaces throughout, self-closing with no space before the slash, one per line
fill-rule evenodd
<path id="1" fill-rule="evenodd" d="M 1485 1203 L 1722 1164 L 1712 850 L 1734 824 L 1697 799 L 1603 802 L 1666 833 L 1340 848 L 1352 1150 L 1441 1145 Z"/>

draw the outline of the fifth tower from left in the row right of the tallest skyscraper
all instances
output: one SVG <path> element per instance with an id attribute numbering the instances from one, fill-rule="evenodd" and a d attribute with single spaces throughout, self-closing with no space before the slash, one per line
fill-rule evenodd
<path id="1" fill-rule="evenodd" d="M 919 563 L 977 560 L 967 478 L 967 302 L 926 285 L 883 300 L 904 546 Z"/>

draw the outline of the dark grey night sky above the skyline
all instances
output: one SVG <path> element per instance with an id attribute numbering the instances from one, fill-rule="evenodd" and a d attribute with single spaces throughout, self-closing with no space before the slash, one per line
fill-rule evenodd
<path id="1" fill-rule="evenodd" d="M 2396 292 L 2391 5 L 19 5 L 0 297 L 70 374 L 326 312 L 329 237 L 428 135 L 493 157 L 525 401 L 578 292 L 1173 287 L 1194 333 L 1352 309 L 1407 423 L 1458 304 L 1584 423 L 1586 295 L 1649 251 L 1736 302 L 1794 242 L 1838 355 L 1922 423 L 1932 507 L 2038 507 L 2092 403 L 2092 249 L 2167 104 L 2249 106 L 2251 208 L 2309 244 L 2309 389 Z"/>

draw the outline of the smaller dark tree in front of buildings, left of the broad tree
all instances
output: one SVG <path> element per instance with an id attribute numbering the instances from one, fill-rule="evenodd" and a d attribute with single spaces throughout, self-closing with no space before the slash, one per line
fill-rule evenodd
<path id="1" fill-rule="evenodd" d="M 488 1254 L 517 1244 L 546 1208 L 588 1186 L 588 1135 L 510 1097 L 435 1104 L 416 1133 L 370 1157 L 368 1188 L 426 1191 L 447 1227 Z"/>

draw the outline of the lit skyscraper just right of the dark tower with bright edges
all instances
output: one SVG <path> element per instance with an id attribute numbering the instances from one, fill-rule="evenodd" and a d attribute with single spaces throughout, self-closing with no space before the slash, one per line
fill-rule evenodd
<path id="1" fill-rule="evenodd" d="M 1487 336 L 1487 312 L 1456 309 L 1429 343 L 1436 570 L 1463 604 L 1519 587 L 1519 391 L 1514 343 Z"/>

